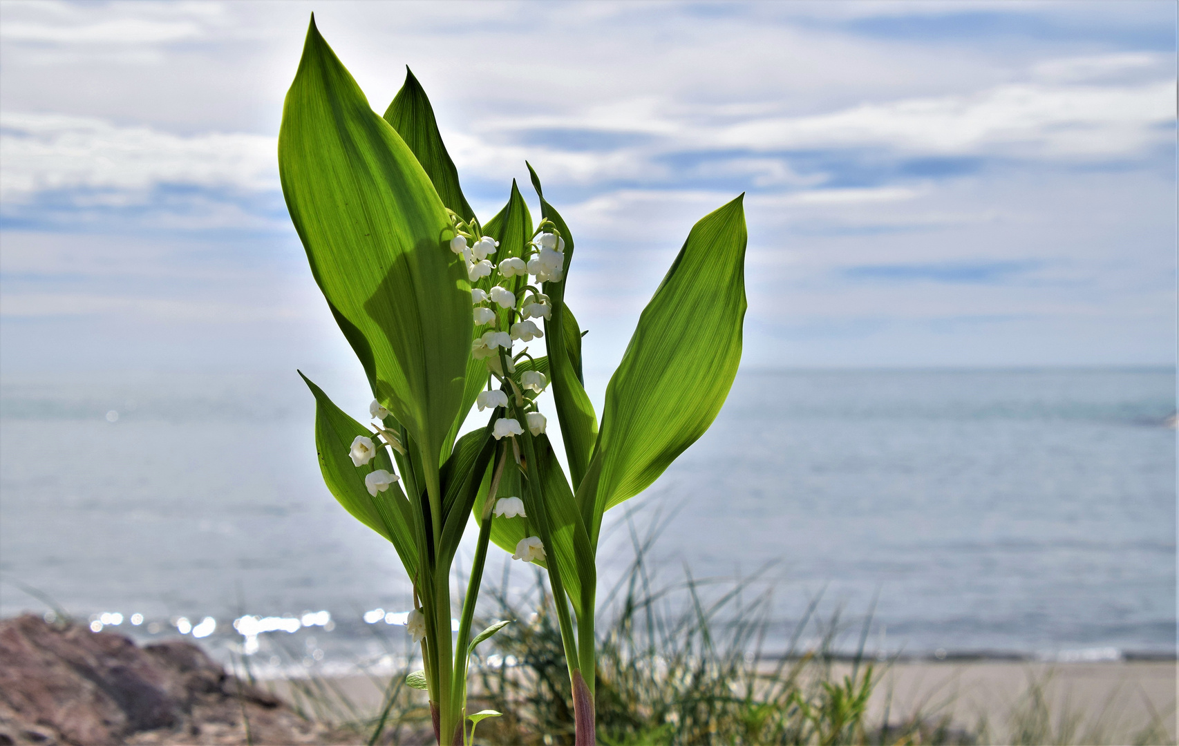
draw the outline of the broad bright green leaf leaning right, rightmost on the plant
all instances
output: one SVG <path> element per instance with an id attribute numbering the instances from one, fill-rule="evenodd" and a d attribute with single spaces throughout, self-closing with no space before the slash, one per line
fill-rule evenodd
<path id="1" fill-rule="evenodd" d="M 594 546 L 602 513 L 663 474 L 704 435 L 729 395 L 745 318 L 743 197 L 692 227 L 610 379 L 594 453 L 597 489 L 579 490 L 581 500 L 595 493 Z"/>

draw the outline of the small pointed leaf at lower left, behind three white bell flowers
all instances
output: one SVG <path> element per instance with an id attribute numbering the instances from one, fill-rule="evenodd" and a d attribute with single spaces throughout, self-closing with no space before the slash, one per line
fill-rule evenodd
<path id="1" fill-rule="evenodd" d="M 364 486 L 364 477 L 375 469 L 393 471 L 393 463 L 386 449 L 380 449 L 369 466 L 356 467 L 348 455 L 353 441 L 358 435 L 374 434 L 336 407 L 323 389 L 303 376 L 315 395 L 315 450 L 320 456 L 320 471 L 328 489 L 353 517 L 381 534 L 397 550 L 401 563 L 410 577 L 417 572 L 417 544 L 414 541 L 413 507 L 397 483 L 371 496 Z"/>

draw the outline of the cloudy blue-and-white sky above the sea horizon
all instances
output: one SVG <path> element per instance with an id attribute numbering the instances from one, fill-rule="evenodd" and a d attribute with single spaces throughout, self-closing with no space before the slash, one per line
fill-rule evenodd
<path id="1" fill-rule="evenodd" d="M 745 192 L 743 363 L 1171 365 L 1175 5 L 0 4 L 0 372 L 358 365 L 276 141 L 311 12 L 485 220 L 527 158 L 610 370 Z"/>

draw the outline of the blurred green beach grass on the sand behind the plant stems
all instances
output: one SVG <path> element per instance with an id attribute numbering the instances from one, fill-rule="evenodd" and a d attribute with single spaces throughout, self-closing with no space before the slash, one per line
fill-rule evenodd
<path id="1" fill-rule="evenodd" d="M 852 626 L 838 614 L 818 619 L 814 599 L 788 648 L 770 655 L 770 592 L 759 574 L 739 581 L 661 582 L 648 562 L 658 520 L 645 535 L 630 526 L 634 560 L 600 603 L 598 741 L 732 745 L 1101 745 L 1174 744 L 1174 702 L 1138 721 L 1124 713 L 1132 687 L 1114 689 L 1101 707 L 1052 695 L 1054 671 L 1028 669 L 1021 693 L 997 715 L 966 712 L 955 687 L 943 685 L 917 706 L 891 706 L 887 674 L 896 660 L 864 654 L 870 612 Z M 477 651 L 472 665 L 472 711 L 496 709 L 480 724 L 477 742 L 573 744 L 573 713 L 560 629 L 540 572 L 531 593 L 509 593 L 508 576 L 485 588 L 482 618 L 513 620 Z M 387 660 L 410 660 L 402 635 L 373 634 Z M 854 635 L 851 654 L 838 643 Z M 801 640 L 809 640 L 803 646 Z M 816 642 L 817 640 L 817 642 Z M 292 654 L 291 660 L 296 660 Z M 424 693 L 406 686 L 416 666 L 369 673 L 380 705 L 361 705 L 336 680 L 312 675 L 286 682 L 285 695 L 305 718 L 355 734 L 358 742 L 433 742 Z M 244 668 L 248 671 L 248 668 Z M 248 674 L 246 674 L 248 675 Z M 883 705 L 881 705 L 883 702 Z M 1141 709 L 1141 708 L 1139 708 Z"/>

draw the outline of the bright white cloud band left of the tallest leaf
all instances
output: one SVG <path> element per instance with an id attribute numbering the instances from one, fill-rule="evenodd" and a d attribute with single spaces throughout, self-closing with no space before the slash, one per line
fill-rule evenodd
<path id="1" fill-rule="evenodd" d="M 5 112 L 0 194 L 11 203 L 47 190 L 141 194 L 160 184 L 275 190 L 276 148 L 276 138 L 243 132 L 179 137 L 90 117 Z"/>

